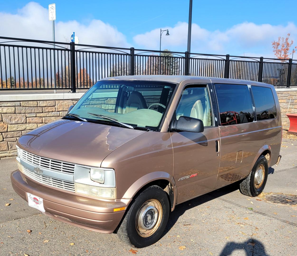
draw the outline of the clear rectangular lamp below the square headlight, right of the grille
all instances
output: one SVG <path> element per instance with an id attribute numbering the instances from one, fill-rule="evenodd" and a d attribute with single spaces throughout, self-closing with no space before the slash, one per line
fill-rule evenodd
<path id="1" fill-rule="evenodd" d="M 104 199 L 116 199 L 115 187 L 95 187 L 95 186 L 75 183 L 75 193 L 104 198 Z"/>

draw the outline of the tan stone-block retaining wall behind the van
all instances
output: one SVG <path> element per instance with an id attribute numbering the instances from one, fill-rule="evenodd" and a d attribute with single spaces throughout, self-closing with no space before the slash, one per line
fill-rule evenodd
<path id="1" fill-rule="evenodd" d="M 297 113 L 297 88 L 276 90 L 282 113 L 282 125 L 288 125 L 287 112 Z M 69 106 L 75 104 L 82 95 L 83 93 L 0 95 L 0 159 L 15 156 L 15 143 L 20 136 L 61 118 Z M 149 105 L 155 102 L 154 97 L 156 96 L 146 97 L 146 103 Z M 112 111 L 115 99 L 100 99 L 95 103 L 101 107 L 108 106 L 107 109 Z"/>

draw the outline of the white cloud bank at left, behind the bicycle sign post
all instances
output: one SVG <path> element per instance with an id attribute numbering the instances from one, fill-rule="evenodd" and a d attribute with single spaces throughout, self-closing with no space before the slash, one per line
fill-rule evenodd
<path id="1" fill-rule="evenodd" d="M 52 41 L 52 23 L 48 20 L 48 9 L 40 4 L 30 2 L 18 9 L 16 14 L 0 12 L 0 17 L 1 36 Z M 91 20 L 88 25 L 75 20 L 58 21 L 55 25 L 58 42 L 65 42 L 65 37 L 70 40 L 70 35 L 75 31 L 81 44 L 130 47 L 126 37 L 116 27 L 101 20 Z"/>

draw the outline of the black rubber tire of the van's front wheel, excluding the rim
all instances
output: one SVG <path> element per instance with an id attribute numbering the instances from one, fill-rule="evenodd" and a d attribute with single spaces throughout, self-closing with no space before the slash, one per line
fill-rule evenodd
<path id="1" fill-rule="evenodd" d="M 136 223 L 136 220 L 138 219 L 138 214 L 143 204 L 151 199 L 159 201 L 160 206 L 162 206 L 162 217 L 159 219 L 158 227 L 156 224 L 156 231 L 154 231 L 151 236 L 142 237 L 139 235 L 139 231 L 137 231 L 138 224 Z M 170 204 L 168 194 L 159 186 L 150 186 L 133 199 L 132 205 L 124 217 L 117 234 L 122 241 L 130 245 L 132 244 L 137 248 L 143 248 L 154 244 L 159 240 L 165 230 L 169 211 Z"/>

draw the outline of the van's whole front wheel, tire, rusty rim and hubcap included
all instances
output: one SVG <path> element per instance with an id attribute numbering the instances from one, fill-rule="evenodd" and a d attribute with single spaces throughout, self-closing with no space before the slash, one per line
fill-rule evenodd
<path id="1" fill-rule="evenodd" d="M 154 244 L 164 232 L 169 211 L 167 193 L 155 185 L 146 188 L 133 200 L 117 232 L 119 238 L 138 248 Z"/>

